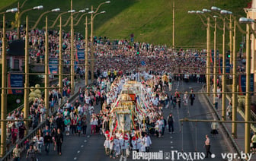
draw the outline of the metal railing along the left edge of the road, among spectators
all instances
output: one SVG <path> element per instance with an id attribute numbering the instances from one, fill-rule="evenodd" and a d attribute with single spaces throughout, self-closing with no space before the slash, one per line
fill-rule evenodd
<path id="1" fill-rule="evenodd" d="M 93 84 L 88 84 L 88 86 L 91 86 Z M 85 87 L 83 87 L 84 89 Z M 70 98 L 69 98 L 69 103 L 72 103 L 77 97 L 79 96 L 79 91 L 77 93 L 75 93 L 74 95 L 72 95 Z M 64 106 L 65 103 L 62 103 L 61 107 Z M 53 112 L 53 115 L 56 115 L 56 112 L 57 112 L 57 109 L 55 110 L 55 112 Z M 34 136 L 36 136 L 37 134 L 37 131 L 39 129 L 43 129 L 46 125 L 46 120 L 41 122 L 40 125 L 37 126 L 37 128 L 35 128 L 33 131 L 30 131 L 29 134 L 27 134 L 27 136 L 25 136 L 22 140 L 20 140 L 18 142 L 18 145 L 19 147 L 21 148 L 21 150 L 25 150 L 25 140 L 29 139 L 31 140 Z M 5 154 L 5 156 L 2 157 L 2 161 L 8 161 L 8 159 L 11 159 L 12 158 L 12 151 L 14 150 L 14 147 L 11 147 L 11 149 Z"/>

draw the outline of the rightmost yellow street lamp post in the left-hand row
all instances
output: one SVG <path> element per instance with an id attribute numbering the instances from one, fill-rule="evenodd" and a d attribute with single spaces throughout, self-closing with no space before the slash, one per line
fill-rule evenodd
<path id="1" fill-rule="evenodd" d="M 107 2 L 102 2 L 100 5 L 98 5 L 98 8 L 96 11 L 93 11 L 93 6 L 91 5 L 91 82 L 94 82 L 94 42 L 93 42 L 93 21 L 94 21 L 94 16 L 93 14 L 96 14 L 98 12 L 98 9 L 101 7 L 101 5 L 105 3 L 110 3 L 110 1 Z"/>

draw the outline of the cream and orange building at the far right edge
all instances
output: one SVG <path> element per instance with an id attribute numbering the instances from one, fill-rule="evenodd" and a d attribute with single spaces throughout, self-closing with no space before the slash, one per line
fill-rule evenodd
<path id="1" fill-rule="evenodd" d="M 256 19 L 256 0 L 252 0 L 248 4 L 248 8 L 245 8 L 245 13 L 248 18 Z M 253 30 L 256 30 L 255 24 L 251 24 Z M 254 73 L 254 91 L 256 91 L 256 39 L 251 35 L 251 73 Z M 256 96 L 254 94 L 251 99 L 255 103 Z"/>

